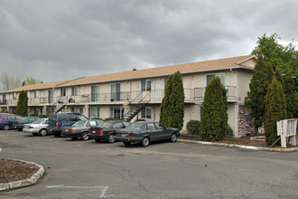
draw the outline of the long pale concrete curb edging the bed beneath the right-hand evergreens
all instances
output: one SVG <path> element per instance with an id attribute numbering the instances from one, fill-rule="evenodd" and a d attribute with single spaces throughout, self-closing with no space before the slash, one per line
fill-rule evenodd
<path id="1" fill-rule="evenodd" d="M 184 143 L 219 146 L 219 147 L 237 147 L 237 148 L 245 148 L 245 149 L 257 150 L 257 151 L 271 151 L 271 152 L 294 152 L 294 151 L 298 151 L 298 147 L 292 147 L 292 148 L 253 147 L 253 146 L 214 143 L 214 142 L 205 142 L 205 141 L 194 141 L 194 140 L 189 140 L 189 139 L 177 139 L 177 141 L 184 142 Z"/>

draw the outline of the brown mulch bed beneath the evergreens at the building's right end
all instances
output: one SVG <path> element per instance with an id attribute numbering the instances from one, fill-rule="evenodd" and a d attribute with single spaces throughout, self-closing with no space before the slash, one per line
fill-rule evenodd
<path id="1" fill-rule="evenodd" d="M 181 139 L 195 140 L 195 141 L 204 141 L 199 136 L 182 134 Z M 233 145 L 243 145 L 243 146 L 252 146 L 252 147 L 269 147 L 269 148 L 281 148 L 280 146 L 266 146 L 265 141 L 251 140 L 250 136 L 239 137 L 239 138 L 225 138 L 222 141 L 210 141 L 213 143 L 224 143 L 224 144 L 233 144 Z M 292 148 L 296 146 L 287 145 L 287 148 Z"/>

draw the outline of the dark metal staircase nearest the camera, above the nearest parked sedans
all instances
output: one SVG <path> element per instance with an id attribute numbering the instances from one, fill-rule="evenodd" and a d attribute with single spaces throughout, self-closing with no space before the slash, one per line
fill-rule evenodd
<path id="1" fill-rule="evenodd" d="M 135 97 L 134 100 L 129 102 L 129 105 L 132 106 L 132 108 L 126 113 L 124 119 L 129 122 L 135 116 L 142 110 L 144 107 L 148 104 L 148 102 L 151 100 L 151 93 L 148 92 L 143 98 L 143 92 L 141 92 L 139 95 Z M 133 104 L 139 100 L 136 104 Z"/>

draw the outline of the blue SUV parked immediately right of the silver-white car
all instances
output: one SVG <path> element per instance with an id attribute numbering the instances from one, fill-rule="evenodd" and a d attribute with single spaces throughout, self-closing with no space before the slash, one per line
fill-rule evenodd
<path id="1" fill-rule="evenodd" d="M 49 133 L 52 133 L 55 137 L 60 137 L 63 127 L 71 126 L 79 120 L 87 119 L 87 117 L 79 113 L 60 113 L 51 115 L 49 118 Z"/>

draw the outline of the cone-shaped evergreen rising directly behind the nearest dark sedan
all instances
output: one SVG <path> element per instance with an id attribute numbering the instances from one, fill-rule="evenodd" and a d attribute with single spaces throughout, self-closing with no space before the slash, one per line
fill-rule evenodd
<path id="1" fill-rule="evenodd" d="M 160 122 L 171 128 L 183 127 L 184 89 L 180 71 L 169 76 L 161 104 Z"/>

